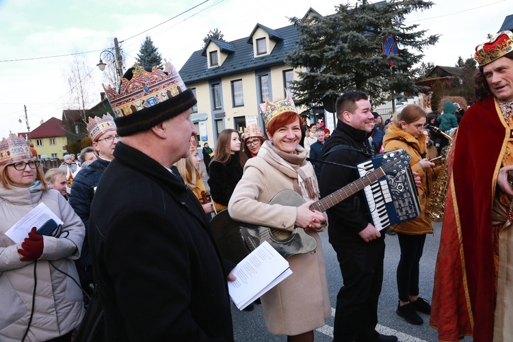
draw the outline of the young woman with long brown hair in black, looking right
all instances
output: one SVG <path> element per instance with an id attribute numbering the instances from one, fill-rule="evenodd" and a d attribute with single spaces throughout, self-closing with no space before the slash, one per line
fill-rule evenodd
<path id="1" fill-rule="evenodd" d="M 248 157 L 241 150 L 239 133 L 224 129 L 218 137 L 218 146 L 210 163 L 209 187 L 215 211 L 228 208 L 233 189 L 242 178 L 242 169 Z"/>

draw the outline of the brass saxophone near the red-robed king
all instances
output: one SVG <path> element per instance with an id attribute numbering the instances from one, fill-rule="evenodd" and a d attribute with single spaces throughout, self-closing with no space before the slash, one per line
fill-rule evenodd
<path id="1" fill-rule="evenodd" d="M 438 127 L 432 127 L 432 129 L 436 133 L 447 137 L 447 140 L 449 140 L 449 144 L 447 145 L 447 150 L 445 150 L 445 153 L 440 151 L 440 154 L 443 155 L 445 160 L 440 166 L 440 172 L 438 172 L 436 181 L 433 182 L 433 191 L 425 210 L 428 218 L 430 218 L 433 222 L 441 222 L 443 220 L 443 212 L 445 210 L 445 196 L 447 196 L 447 157 L 451 151 L 453 137 L 447 133 L 444 133 L 443 131 L 440 131 Z"/>

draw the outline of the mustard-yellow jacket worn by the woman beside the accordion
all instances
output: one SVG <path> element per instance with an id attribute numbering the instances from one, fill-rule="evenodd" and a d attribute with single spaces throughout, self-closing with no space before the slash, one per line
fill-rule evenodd
<path id="1" fill-rule="evenodd" d="M 415 139 L 413 135 L 404 132 L 402 129 L 391 126 L 383 137 L 383 146 L 385 152 L 397 150 L 397 148 L 404 148 L 404 150 L 412 156 L 412 159 L 410 159 L 412 171 L 419 172 L 421 176 L 421 186 L 417 188 L 419 192 L 419 202 L 421 202 L 421 213 L 413 220 L 397 224 L 393 227 L 393 230 L 397 233 L 408 235 L 433 233 L 433 223 L 425 213 L 425 206 L 430 196 L 428 181 L 432 181 L 436 179 L 436 177 L 434 176 L 434 170 L 432 170 L 432 168 L 423 170 L 419 164 L 419 161 L 422 159 L 421 153 L 425 153 L 425 135 L 421 133 L 419 137 Z"/>

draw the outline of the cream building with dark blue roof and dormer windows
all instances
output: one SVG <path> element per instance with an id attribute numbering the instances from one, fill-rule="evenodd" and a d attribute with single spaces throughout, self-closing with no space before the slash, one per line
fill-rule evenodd
<path id="1" fill-rule="evenodd" d="M 285 89 L 293 96 L 290 82 L 298 79 L 299 70 L 284 60 L 296 49 L 298 37 L 294 25 L 272 29 L 257 23 L 247 37 L 232 42 L 210 38 L 204 49 L 192 53 L 179 73 L 198 100 L 192 120 L 200 144 L 215 146 L 223 129 L 242 132 L 251 123 L 264 128 L 259 103 L 265 96 L 285 98 Z"/>

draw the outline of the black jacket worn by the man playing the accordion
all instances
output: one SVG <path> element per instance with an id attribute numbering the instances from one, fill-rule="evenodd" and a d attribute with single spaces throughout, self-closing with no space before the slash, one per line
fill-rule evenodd
<path id="1" fill-rule="evenodd" d="M 361 161 L 371 158 L 372 148 L 369 146 L 369 135 L 365 131 L 354 129 L 345 122 L 339 121 L 337 128 L 330 139 L 324 144 L 322 149 L 323 156 L 329 152 L 331 148 L 337 145 L 349 145 L 361 150 L 335 150 L 329 153 L 326 161 L 341 163 L 343 165 L 355 166 Z M 345 185 L 358 179 L 354 168 L 346 168 L 325 163 L 321 168 L 321 183 L 319 185 L 321 197 L 328 196 L 333 192 L 341 189 Z M 380 239 L 384 239 L 384 234 L 380 239 L 365 242 L 358 233 L 363 231 L 369 224 L 370 215 L 367 212 L 367 204 L 363 191 L 357 192 L 350 198 L 343 200 L 338 205 L 328 209 L 328 220 L 330 226 L 328 235 L 330 244 L 335 246 L 353 247 L 365 246 L 368 244 L 377 244 Z"/>

